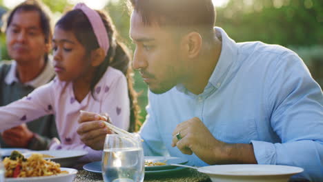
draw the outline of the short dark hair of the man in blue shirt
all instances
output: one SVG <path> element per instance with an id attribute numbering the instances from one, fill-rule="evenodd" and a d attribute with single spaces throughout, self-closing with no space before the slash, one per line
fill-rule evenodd
<path id="1" fill-rule="evenodd" d="M 202 37 L 213 37 L 215 8 L 211 0 L 129 0 L 131 10 L 141 16 L 146 25 L 196 31 Z"/>

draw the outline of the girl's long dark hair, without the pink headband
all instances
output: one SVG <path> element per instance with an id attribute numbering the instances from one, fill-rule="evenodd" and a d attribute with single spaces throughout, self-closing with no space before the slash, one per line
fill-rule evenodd
<path id="1" fill-rule="evenodd" d="M 141 123 L 139 122 L 139 105 L 137 103 L 137 92 L 133 88 L 133 70 L 130 66 L 130 52 L 124 43 L 121 43 L 116 39 L 117 31 L 115 26 L 108 14 L 104 12 L 97 11 L 104 22 L 106 31 L 108 32 L 108 38 L 110 40 L 110 48 L 106 58 L 97 66 L 95 71 L 95 77 L 92 79 L 90 90 L 92 96 L 94 93 L 95 85 L 99 82 L 101 77 L 106 72 L 108 66 L 110 65 L 117 70 L 124 73 L 128 81 L 128 94 L 130 98 L 130 132 L 135 132 L 139 130 Z M 86 49 L 86 54 L 90 55 L 91 50 L 99 48 L 99 43 L 97 42 L 97 37 L 93 32 L 90 21 L 81 10 L 71 10 L 67 12 L 57 23 L 56 26 L 66 30 L 72 31 L 75 34 L 77 40 L 84 45 Z M 94 96 L 93 96 L 94 97 Z"/>

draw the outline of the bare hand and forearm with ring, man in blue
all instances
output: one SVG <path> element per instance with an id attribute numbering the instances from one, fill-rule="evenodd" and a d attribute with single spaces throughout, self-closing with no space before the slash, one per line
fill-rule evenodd
<path id="1" fill-rule="evenodd" d="M 177 139 L 179 134 L 182 139 Z M 172 146 L 184 154 L 195 154 L 208 164 L 257 163 L 251 144 L 230 144 L 214 138 L 197 117 L 179 123 L 173 132 Z"/>

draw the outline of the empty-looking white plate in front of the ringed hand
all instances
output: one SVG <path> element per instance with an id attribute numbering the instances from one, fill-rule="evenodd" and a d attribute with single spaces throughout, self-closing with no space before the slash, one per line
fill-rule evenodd
<path id="1" fill-rule="evenodd" d="M 210 176 L 212 181 L 257 181 L 287 182 L 294 174 L 303 172 L 302 168 L 288 165 L 209 165 L 198 168 Z"/>

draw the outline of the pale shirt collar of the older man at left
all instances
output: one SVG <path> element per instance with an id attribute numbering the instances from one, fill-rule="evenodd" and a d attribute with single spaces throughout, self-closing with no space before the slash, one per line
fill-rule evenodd
<path id="1" fill-rule="evenodd" d="M 16 72 L 17 72 L 17 62 L 12 61 L 10 70 L 6 75 L 6 79 L 5 79 L 6 84 L 11 85 L 14 82 L 19 82 Z M 43 69 L 43 72 L 41 72 L 41 74 L 39 74 L 39 76 L 33 79 L 32 81 L 28 81 L 23 84 L 31 86 L 32 88 L 38 88 L 39 86 L 48 83 L 52 79 L 52 77 L 54 77 L 54 75 L 55 75 L 55 71 L 54 71 L 54 68 L 52 68 L 52 64 L 50 63 L 50 61 L 46 61 L 46 66 Z"/>

